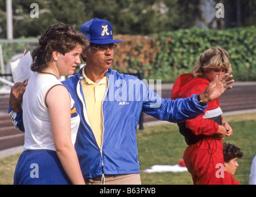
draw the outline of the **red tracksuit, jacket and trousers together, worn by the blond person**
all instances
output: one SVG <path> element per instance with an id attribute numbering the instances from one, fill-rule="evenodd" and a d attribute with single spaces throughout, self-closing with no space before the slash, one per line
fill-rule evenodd
<path id="1" fill-rule="evenodd" d="M 203 92 L 210 81 L 193 78 L 192 74 L 181 74 L 173 86 L 172 98 L 190 97 Z M 218 132 L 222 124 L 222 111 L 218 98 L 208 102 L 202 115 L 195 119 L 181 121 L 179 131 L 189 145 L 184 151 L 184 162 L 192 175 L 194 184 L 223 185 L 224 179 L 216 177 L 217 164 L 223 164 L 223 145 Z"/>

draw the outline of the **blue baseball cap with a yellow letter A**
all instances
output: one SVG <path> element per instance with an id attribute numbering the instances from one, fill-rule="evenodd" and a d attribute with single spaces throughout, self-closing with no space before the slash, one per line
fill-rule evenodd
<path id="1" fill-rule="evenodd" d="M 81 26 L 80 32 L 85 34 L 91 43 L 112 44 L 122 42 L 113 39 L 112 26 L 106 20 L 94 18 Z"/>

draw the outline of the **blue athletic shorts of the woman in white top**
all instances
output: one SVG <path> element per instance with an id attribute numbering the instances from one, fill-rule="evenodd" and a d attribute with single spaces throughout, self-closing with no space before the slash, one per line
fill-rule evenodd
<path id="1" fill-rule="evenodd" d="M 71 184 L 56 151 L 26 150 L 14 172 L 14 185 Z"/>

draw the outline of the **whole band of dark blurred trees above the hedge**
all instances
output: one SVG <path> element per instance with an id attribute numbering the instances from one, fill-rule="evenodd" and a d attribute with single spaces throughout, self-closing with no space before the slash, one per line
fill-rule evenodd
<path id="1" fill-rule="evenodd" d="M 208 2 L 211 11 L 204 12 Z M 215 5 L 221 2 L 225 17 L 215 17 Z M 30 5 L 39 6 L 39 18 L 30 17 Z M 255 25 L 254 0 L 12 0 L 14 38 L 38 36 L 56 22 L 80 26 L 101 18 L 109 20 L 115 34 L 142 34 L 192 28 L 230 28 Z M 207 20 L 207 15 L 212 16 Z M 223 25 L 220 25 L 220 22 Z M 213 25 L 217 23 L 217 25 Z M 202 26 L 202 25 L 201 25 Z M 6 0 L 0 1 L 0 38 L 6 38 Z"/>

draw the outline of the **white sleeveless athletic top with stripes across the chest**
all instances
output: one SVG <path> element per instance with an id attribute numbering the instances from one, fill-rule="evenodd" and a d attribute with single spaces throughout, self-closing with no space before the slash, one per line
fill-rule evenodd
<path id="1" fill-rule="evenodd" d="M 23 124 L 25 127 L 24 150 L 54 150 L 53 133 L 49 121 L 46 97 L 49 90 L 63 84 L 51 73 L 34 73 L 23 94 Z M 80 117 L 71 99 L 71 139 L 74 145 Z M 61 115 L 60 115 L 61 116 Z"/>

